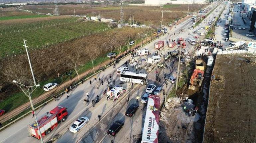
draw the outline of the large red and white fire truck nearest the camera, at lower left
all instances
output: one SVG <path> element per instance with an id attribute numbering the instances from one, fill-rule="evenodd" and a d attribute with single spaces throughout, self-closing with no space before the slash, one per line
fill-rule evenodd
<path id="1" fill-rule="evenodd" d="M 42 118 L 38 120 L 38 126 L 42 137 L 51 133 L 51 131 L 58 126 L 59 123 L 64 122 L 68 117 L 67 108 L 57 106 L 50 112 L 47 112 Z M 28 132 L 30 136 L 40 139 L 40 133 L 37 123 L 28 125 Z"/>

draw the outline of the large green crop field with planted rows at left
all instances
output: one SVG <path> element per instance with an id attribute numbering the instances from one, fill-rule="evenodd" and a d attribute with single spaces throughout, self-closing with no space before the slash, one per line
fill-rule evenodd
<path id="1" fill-rule="evenodd" d="M 27 45 L 32 49 L 42 48 L 107 28 L 106 23 L 77 21 L 77 18 L 2 25 L 0 57 L 23 52 L 23 39 L 27 40 Z"/>

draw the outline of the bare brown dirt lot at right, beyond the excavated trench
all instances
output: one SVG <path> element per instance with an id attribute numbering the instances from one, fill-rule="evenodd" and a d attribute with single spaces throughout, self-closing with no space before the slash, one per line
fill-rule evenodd
<path id="1" fill-rule="evenodd" d="M 256 56 L 218 55 L 204 143 L 256 142 Z"/>

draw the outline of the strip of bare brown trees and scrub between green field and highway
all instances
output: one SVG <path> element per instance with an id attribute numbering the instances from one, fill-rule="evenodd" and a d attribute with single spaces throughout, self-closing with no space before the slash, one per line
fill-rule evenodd
<path id="1" fill-rule="evenodd" d="M 130 41 L 140 38 L 138 33 L 150 35 L 152 31 L 153 29 L 149 28 L 115 28 L 47 48 L 29 51 L 34 74 L 37 81 L 41 82 L 57 77 L 58 73 L 62 74 L 72 70 L 80 79 L 80 66 L 91 62 L 95 72 L 94 62 L 98 57 L 106 56 L 110 51 L 117 51 L 117 54 L 120 54 L 125 49 L 129 49 Z M 28 46 L 29 42 L 27 41 Z M 17 89 L 11 84 L 14 79 L 25 85 L 33 84 L 26 54 L 1 59 L 0 69 L 0 88 L 2 87 L 0 100 L 10 95 L 12 91 L 10 89 Z"/>

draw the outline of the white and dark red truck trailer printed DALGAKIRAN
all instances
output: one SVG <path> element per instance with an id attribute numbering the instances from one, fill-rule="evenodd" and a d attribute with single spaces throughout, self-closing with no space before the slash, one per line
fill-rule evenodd
<path id="1" fill-rule="evenodd" d="M 160 96 L 149 95 L 141 143 L 158 143 Z"/>

